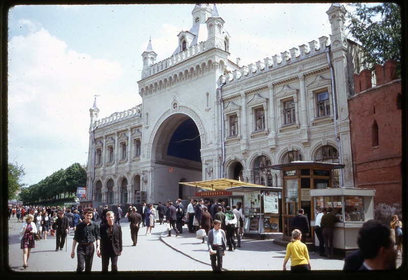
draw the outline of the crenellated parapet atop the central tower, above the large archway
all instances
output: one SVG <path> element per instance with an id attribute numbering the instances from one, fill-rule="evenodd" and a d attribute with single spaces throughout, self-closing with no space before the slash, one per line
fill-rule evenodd
<path id="1" fill-rule="evenodd" d="M 165 69 L 168 69 L 174 65 L 177 65 L 191 57 L 201 54 L 202 52 L 205 52 L 205 50 L 206 50 L 206 42 L 200 42 L 196 45 L 193 45 L 183 50 L 183 52 L 177 53 L 169 58 L 166 58 L 162 61 L 152 64 L 143 71 L 142 80 L 158 72 L 161 72 Z"/>

